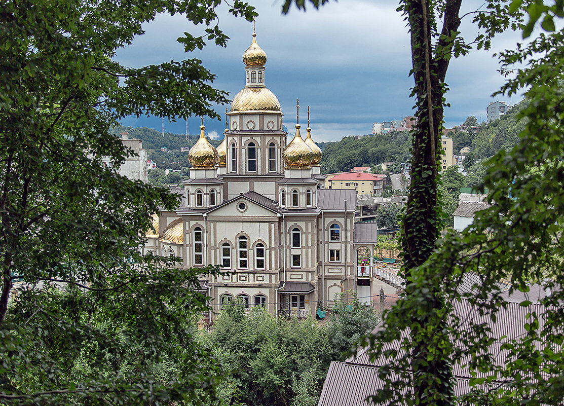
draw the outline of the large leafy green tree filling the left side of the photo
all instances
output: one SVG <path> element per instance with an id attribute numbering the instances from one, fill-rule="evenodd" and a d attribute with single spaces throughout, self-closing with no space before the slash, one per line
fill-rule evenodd
<path id="1" fill-rule="evenodd" d="M 218 117 L 210 106 L 227 94 L 199 60 L 127 68 L 111 59 L 160 12 L 206 24 L 205 38 L 224 45 L 211 24 L 216 5 L 3 2 L 0 403 L 156 405 L 202 387 L 213 395 L 219 365 L 186 326 L 205 309 L 193 290 L 202 270 L 138 250 L 151 214 L 173 210 L 177 197 L 111 169 L 130 151 L 110 129 L 131 114 Z M 245 3 L 230 11 L 255 16 Z M 180 41 L 190 51 L 205 38 Z M 132 348 L 143 354 L 133 369 Z M 164 356 L 179 361 L 170 382 L 153 368 Z"/>

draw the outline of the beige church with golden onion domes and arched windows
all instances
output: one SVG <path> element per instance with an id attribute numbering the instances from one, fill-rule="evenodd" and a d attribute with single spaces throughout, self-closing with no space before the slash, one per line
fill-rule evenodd
<path id="1" fill-rule="evenodd" d="M 255 33 L 243 62 L 245 87 L 231 103 L 223 142 L 215 149 L 202 123 L 182 205 L 153 218 L 144 250 L 180 257 L 183 267 L 231 271 L 200 277 L 209 321 L 236 298 L 249 310 L 300 319 L 345 290 L 370 303 L 380 289 L 371 271 L 376 224 L 355 223 L 354 190 L 323 188 L 310 127 L 304 139 L 296 125 L 288 142 Z"/>

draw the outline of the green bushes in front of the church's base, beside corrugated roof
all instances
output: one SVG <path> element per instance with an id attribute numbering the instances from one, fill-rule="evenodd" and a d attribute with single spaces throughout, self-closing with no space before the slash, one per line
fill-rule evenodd
<path id="1" fill-rule="evenodd" d="M 316 405 L 329 363 L 341 359 L 380 320 L 372 307 L 350 294 L 350 299 L 345 293 L 336 295 L 333 314 L 324 325 L 312 319 L 276 320 L 260 307 L 246 315 L 242 303 L 226 306 L 207 339 L 223 354 L 226 382 L 237 386 L 239 401 Z M 230 404 L 231 399 L 230 392 L 222 400 Z"/>

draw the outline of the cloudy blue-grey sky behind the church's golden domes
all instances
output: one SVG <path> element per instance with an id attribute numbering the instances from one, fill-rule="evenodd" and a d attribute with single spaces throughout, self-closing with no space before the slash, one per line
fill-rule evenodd
<path id="1" fill-rule="evenodd" d="M 337 141 L 347 135 L 372 133 L 372 123 L 400 120 L 413 114 L 415 101 L 409 97 L 413 78 L 409 33 L 396 3 L 386 0 L 331 1 L 306 12 L 292 8 L 281 14 L 280 0 L 249 2 L 257 8 L 257 41 L 267 54 L 265 84 L 280 101 L 284 125 L 294 133 L 296 99 L 300 104 L 300 123 L 307 121 L 307 105 L 311 111 L 311 135 L 316 142 Z M 482 2 L 463 2 L 462 14 L 480 7 Z M 144 25 L 146 33 L 117 52 L 115 60 L 128 67 L 158 64 L 163 61 L 199 58 L 217 75 L 214 86 L 230 92 L 230 98 L 245 86 L 245 65 L 242 55 L 252 42 L 253 24 L 228 14 L 222 5 L 219 25 L 231 39 L 226 48 L 213 43 L 186 54 L 176 39 L 188 31 L 202 34 L 204 28 L 193 26 L 182 15 L 158 15 Z M 477 29 L 472 15 L 462 20 L 461 33 L 474 38 Z M 473 50 L 469 55 L 453 59 L 446 82 L 451 104 L 445 110 L 445 126 L 460 125 L 466 117 L 486 120 L 486 107 L 491 101 L 509 104 L 519 96 L 492 98 L 504 78 L 497 69 L 493 54 L 514 48 L 520 39 L 515 32 L 493 39 L 492 49 Z M 217 106 L 223 113 L 225 106 Z M 159 117 L 127 117 L 125 126 L 150 127 L 161 130 Z M 206 133 L 221 136 L 223 121 L 204 118 Z M 168 133 L 184 134 L 186 122 L 164 122 Z M 200 119 L 188 120 L 190 134 L 199 134 Z"/>

